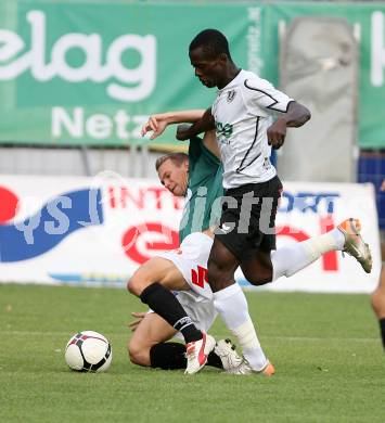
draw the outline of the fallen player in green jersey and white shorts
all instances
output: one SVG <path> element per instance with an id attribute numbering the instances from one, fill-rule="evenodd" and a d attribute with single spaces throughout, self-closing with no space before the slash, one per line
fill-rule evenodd
<path id="1" fill-rule="evenodd" d="M 161 134 L 171 123 L 195 121 L 204 111 L 187 111 L 154 115 L 143 128 Z M 155 312 L 146 313 L 130 339 L 128 350 L 132 362 L 163 369 L 195 369 L 208 364 L 229 370 L 242 361 L 230 343 L 217 344 L 206 331 L 217 312 L 213 293 L 205 281 L 207 259 L 214 233 L 210 226 L 220 215 L 222 167 L 215 132 L 190 143 L 189 155 L 168 154 L 156 162 L 161 182 L 188 202 L 180 225 L 180 248 L 158 254 L 142 265 L 129 280 L 128 290 Z M 217 202 L 217 207 L 215 206 Z M 177 297 L 170 292 L 179 291 Z M 177 299 L 178 298 L 178 299 Z M 179 302 L 178 302 L 179 300 Z M 138 315 L 141 318 L 142 315 Z M 181 332 L 187 346 L 165 343 Z M 194 341 L 198 341 L 197 348 Z M 214 350 L 214 354 L 211 351 Z"/>

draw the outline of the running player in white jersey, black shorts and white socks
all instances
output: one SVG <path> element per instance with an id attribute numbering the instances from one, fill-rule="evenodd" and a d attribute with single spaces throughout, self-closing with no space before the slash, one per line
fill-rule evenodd
<path id="1" fill-rule="evenodd" d="M 216 29 L 200 33 L 190 43 L 189 55 L 201 82 L 219 89 L 204 116 L 177 132 L 178 139 L 187 140 L 216 129 L 221 152 L 227 204 L 209 255 L 208 282 L 217 311 L 242 346 L 246 360 L 240 372 L 260 372 L 269 362 L 245 295 L 234 281 L 235 269 L 240 266 L 252 284 L 261 285 L 293 274 L 329 249 L 345 249 L 370 272 L 370 249 L 360 236 L 359 221 L 349 219 L 324 235 L 274 252 L 282 184 L 269 159 L 271 146 L 282 146 L 287 128 L 303 126 L 310 112 L 267 80 L 238 67 L 228 40 Z"/>

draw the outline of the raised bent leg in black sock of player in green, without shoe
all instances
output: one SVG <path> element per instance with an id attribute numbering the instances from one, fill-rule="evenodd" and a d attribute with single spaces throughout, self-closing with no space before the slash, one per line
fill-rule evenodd
<path id="1" fill-rule="evenodd" d="M 190 289 L 171 261 L 161 257 L 151 258 L 134 272 L 127 283 L 127 289 L 176 331 L 180 331 L 187 344 L 205 337 L 169 291 Z"/>

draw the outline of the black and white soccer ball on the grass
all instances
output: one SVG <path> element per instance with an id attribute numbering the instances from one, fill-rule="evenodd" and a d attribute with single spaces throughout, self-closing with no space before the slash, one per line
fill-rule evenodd
<path id="1" fill-rule="evenodd" d="M 65 347 L 65 362 L 78 372 L 105 372 L 113 359 L 107 338 L 98 332 L 82 331 Z"/>

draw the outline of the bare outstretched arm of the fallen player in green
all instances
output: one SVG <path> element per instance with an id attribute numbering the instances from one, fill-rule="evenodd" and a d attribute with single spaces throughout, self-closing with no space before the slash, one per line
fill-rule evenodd
<path id="1" fill-rule="evenodd" d="M 198 120 L 204 110 L 190 110 L 181 112 L 166 112 L 155 115 L 151 115 L 149 120 L 143 125 L 141 134 L 144 137 L 147 132 L 153 132 L 150 137 L 151 140 L 159 137 L 168 125 L 180 123 L 194 123 Z"/>

